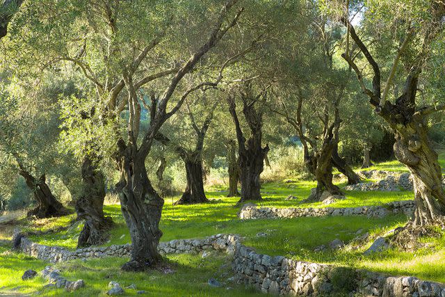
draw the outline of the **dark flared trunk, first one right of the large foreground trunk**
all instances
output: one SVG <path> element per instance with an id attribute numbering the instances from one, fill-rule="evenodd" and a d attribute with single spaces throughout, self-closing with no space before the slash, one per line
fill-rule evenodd
<path id="1" fill-rule="evenodd" d="M 183 158 L 186 166 L 186 190 L 175 204 L 195 204 L 209 202 L 204 193 L 202 161 L 197 154 L 186 155 Z"/>

